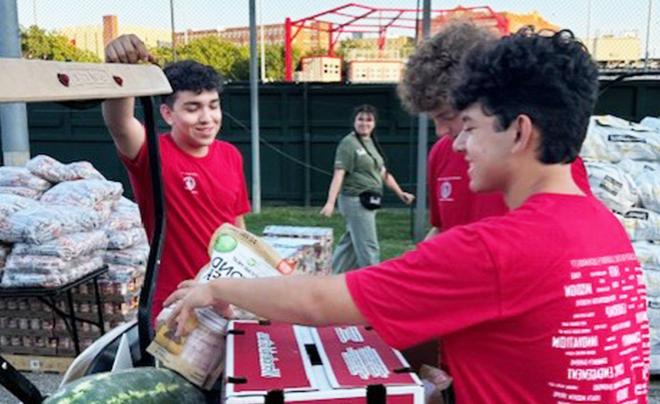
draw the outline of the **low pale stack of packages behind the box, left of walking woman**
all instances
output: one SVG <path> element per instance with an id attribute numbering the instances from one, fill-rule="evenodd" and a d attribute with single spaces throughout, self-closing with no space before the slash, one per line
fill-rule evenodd
<path id="1" fill-rule="evenodd" d="M 298 261 L 297 256 L 302 254 L 301 250 L 313 247 L 315 269 L 313 271 L 304 269 L 302 272 L 317 275 L 327 275 L 332 272 L 332 228 L 271 225 L 266 226 L 263 235 L 267 242 L 276 249 L 280 249 L 278 252 L 282 254 L 282 257 L 291 258 L 293 262 Z M 281 240 L 276 241 L 275 239 Z"/>

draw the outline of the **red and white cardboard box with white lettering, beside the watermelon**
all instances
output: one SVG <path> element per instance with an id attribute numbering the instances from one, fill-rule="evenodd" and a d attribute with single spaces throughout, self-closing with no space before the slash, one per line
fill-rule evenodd
<path id="1" fill-rule="evenodd" d="M 422 404 L 401 353 L 370 327 L 232 321 L 225 403 Z"/>

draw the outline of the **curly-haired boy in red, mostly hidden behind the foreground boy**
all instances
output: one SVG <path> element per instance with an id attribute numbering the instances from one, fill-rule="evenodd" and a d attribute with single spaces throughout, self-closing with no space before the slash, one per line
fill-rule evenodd
<path id="1" fill-rule="evenodd" d="M 451 23 L 410 56 L 399 83 L 398 93 L 403 105 L 412 113 L 427 113 L 438 136 L 428 158 L 432 228 L 427 237 L 484 217 L 503 215 L 509 210 L 500 192 L 475 193 L 469 189 L 465 158 L 452 148 L 463 125 L 449 99 L 450 89 L 458 78 L 460 61 L 473 46 L 494 39 L 490 30 L 472 22 Z M 583 192 L 591 194 L 587 172 L 579 157 L 571 170 L 573 181 Z"/>

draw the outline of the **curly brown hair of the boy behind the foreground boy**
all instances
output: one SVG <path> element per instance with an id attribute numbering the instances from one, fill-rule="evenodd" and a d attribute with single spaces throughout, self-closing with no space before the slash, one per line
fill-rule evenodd
<path id="1" fill-rule="evenodd" d="M 429 112 L 450 105 L 449 91 L 457 79 L 463 56 L 475 44 L 495 35 L 470 21 L 455 21 L 423 42 L 406 63 L 397 92 L 412 113 Z"/>

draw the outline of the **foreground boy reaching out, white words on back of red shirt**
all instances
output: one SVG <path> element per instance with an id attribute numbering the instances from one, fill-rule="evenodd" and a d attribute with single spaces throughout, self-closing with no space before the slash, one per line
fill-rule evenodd
<path id="1" fill-rule="evenodd" d="M 646 402 L 640 265 L 571 175 L 595 64 L 568 31 L 514 35 L 471 51 L 460 77 L 454 148 L 470 189 L 502 192 L 507 214 L 345 275 L 185 282 L 166 302 L 177 333 L 193 308 L 231 303 L 274 321 L 371 324 L 397 348 L 442 337 L 457 402 Z"/>

